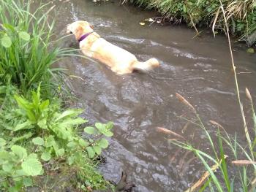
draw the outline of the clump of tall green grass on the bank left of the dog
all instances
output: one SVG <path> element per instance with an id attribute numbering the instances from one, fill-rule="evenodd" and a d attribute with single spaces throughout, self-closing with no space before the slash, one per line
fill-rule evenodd
<path id="1" fill-rule="evenodd" d="M 0 2 L 0 81 L 18 86 L 26 93 L 42 82 L 50 91 L 51 80 L 59 69 L 51 66 L 72 53 L 53 41 L 54 20 L 46 10 L 49 4 L 40 5 L 31 12 L 31 1 L 3 0 Z M 44 12 L 44 14 L 42 14 Z"/>

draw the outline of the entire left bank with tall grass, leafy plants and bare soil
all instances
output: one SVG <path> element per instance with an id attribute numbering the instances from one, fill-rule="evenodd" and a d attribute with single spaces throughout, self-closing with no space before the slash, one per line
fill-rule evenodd
<path id="1" fill-rule="evenodd" d="M 52 65 L 75 54 L 53 41 L 53 7 L 31 12 L 31 2 L 0 2 L 0 191 L 105 188 L 95 166 L 113 123 L 86 127 L 83 111 L 64 103 Z"/>

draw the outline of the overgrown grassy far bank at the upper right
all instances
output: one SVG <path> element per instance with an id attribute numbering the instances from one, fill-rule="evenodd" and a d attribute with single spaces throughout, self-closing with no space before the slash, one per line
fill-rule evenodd
<path id="1" fill-rule="evenodd" d="M 220 14 L 219 0 L 127 0 L 147 9 L 157 9 L 169 20 L 187 23 L 190 27 L 214 26 L 216 31 L 225 31 L 225 20 Z M 252 45 L 256 40 L 256 1 L 222 0 L 227 26 L 233 36 Z"/>

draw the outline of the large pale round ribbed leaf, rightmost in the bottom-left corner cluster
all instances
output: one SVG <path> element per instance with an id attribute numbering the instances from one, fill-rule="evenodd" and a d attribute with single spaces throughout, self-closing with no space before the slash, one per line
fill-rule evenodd
<path id="1" fill-rule="evenodd" d="M 42 171 L 42 164 L 37 158 L 27 158 L 23 161 L 21 167 L 28 176 L 37 176 Z"/>

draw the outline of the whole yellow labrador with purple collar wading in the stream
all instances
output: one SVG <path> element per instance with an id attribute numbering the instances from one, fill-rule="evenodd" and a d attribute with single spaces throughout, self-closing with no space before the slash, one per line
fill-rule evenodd
<path id="1" fill-rule="evenodd" d="M 117 74 L 129 74 L 134 70 L 148 71 L 159 66 L 156 58 L 140 62 L 132 53 L 102 39 L 86 21 L 79 20 L 69 24 L 67 33 L 75 35 L 84 55 L 106 64 Z"/>

